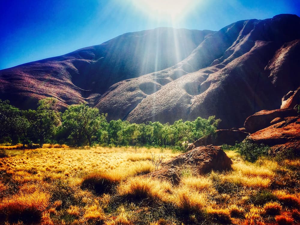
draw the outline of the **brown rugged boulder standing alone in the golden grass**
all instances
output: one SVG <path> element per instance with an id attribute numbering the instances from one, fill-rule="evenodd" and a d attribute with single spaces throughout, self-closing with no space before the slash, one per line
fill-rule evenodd
<path id="1" fill-rule="evenodd" d="M 202 146 L 164 162 L 161 169 L 148 176 L 178 184 L 182 174 L 181 168 L 189 167 L 194 174 L 204 174 L 211 170 L 230 170 L 231 164 L 232 161 L 220 147 Z"/>

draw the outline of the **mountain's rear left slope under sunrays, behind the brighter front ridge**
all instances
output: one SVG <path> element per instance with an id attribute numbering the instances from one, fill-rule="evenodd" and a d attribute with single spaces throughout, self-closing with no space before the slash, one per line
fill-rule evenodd
<path id="1" fill-rule="evenodd" d="M 22 108 L 50 96 L 63 108 L 84 101 L 93 106 L 111 85 L 173 66 L 213 33 L 173 28 L 126 33 L 97 46 L 0 70 L 0 98 Z M 141 88 L 147 94 L 157 91 L 149 84 Z"/>

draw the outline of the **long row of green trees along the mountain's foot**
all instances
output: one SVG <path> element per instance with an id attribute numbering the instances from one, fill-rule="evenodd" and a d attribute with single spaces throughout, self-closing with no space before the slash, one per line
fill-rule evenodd
<path id="1" fill-rule="evenodd" d="M 86 104 L 71 105 L 63 113 L 56 110 L 55 98 L 38 102 L 37 110 L 22 111 L 0 100 L 0 141 L 32 147 L 38 142 L 67 144 L 81 147 L 95 144 L 110 146 L 164 146 L 185 151 L 188 143 L 214 135 L 220 119 L 210 116 L 194 121 L 175 121 L 173 125 L 160 122 L 142 124 L 111 120 L 107 114 Z"/>

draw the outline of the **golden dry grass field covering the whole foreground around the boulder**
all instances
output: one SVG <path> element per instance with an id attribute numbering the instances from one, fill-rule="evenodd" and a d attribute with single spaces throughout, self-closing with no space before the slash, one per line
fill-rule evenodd
<path id="1" fill-rule="evenodd" d="M 297 224 L 300 159 L 245 162 L 177 186 L 145 176 L 170 149 L 47 146 L 0 158 L 0 224 Z M 51 148 L 52 147 L 52 148 Z"/>

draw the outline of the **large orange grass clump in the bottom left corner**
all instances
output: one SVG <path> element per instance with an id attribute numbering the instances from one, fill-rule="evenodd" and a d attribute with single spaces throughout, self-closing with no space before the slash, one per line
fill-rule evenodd
<path id="1" fill-rule="evenodd" d="M 34 192 L 27 195 L 14 195 L 0 202 L 1 219 L 26 223 L 37 222 L 49 203 L 49 195 L 43 192 Z"/>

